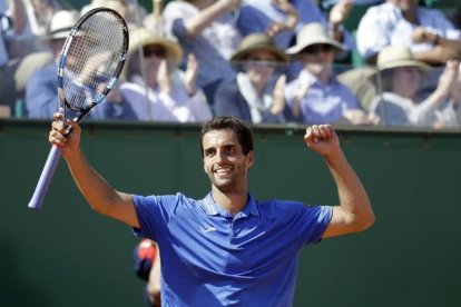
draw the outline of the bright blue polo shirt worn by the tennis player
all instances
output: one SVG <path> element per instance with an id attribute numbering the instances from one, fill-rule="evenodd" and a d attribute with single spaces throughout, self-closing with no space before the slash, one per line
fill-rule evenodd
<path id="1" fill-rule="evenodd" d="M 236 216 L 210 194 L 133 198 L 135 235 L 159 245 L 163 306 L 292 306 L 301 250 L 332 217 L 328 206 L 251 196 Z"/>

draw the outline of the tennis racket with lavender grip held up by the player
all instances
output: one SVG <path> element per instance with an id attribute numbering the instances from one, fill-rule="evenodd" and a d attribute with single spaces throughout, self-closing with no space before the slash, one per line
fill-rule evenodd
<path id="1" fill-rule="evenodd" d="M 68 109 L 79 122 L 114 88 L 128 51 L 128 28 L 124 18 L 108 8 L 97 8 L 80 17 L 70 30 L 58 63 L 59 112 Z M 68 129 L 67 133 L 70 133 Z M 52 146 L 28 207 L 40 209 L 62 155 Z"/>

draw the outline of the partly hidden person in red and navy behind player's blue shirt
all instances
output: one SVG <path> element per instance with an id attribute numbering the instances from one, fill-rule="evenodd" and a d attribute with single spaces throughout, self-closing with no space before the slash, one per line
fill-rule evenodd
<path id="1" fill-rule="evenodd" d="M 135 273 L 147 281 L 146 303 L 149 307 L 161 306 L 160 299 L 160 252 L 155 241 L 141 239 L 134 250 Z"/>

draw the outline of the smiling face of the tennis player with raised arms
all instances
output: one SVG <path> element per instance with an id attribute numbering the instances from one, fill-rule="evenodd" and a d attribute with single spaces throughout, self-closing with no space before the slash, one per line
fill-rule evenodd
<path id="1" fill-rule="evenodd" d="M 253 151 L 245 156 L 232 130 L 209 131 L 202 143 L 204 170 L 215 188 L 226 192 L 246 187 L 246 175 L 253 165 Z"/>

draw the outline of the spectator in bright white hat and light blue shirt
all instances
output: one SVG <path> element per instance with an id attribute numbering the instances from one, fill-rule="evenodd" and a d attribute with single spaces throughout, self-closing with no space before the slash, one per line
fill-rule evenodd
<path id="1" fill-rule="evenodd" d="M 334 55 L 343 50 L 344 47 L 317 22 L 304 26 L 296 36 L 296 44 L 286 50 L 303 65 L 297 79 L 285 90 L 286 101 L 298 121 L 372 123 L 352 91 L 339 82 L 333 72 Z"/>

